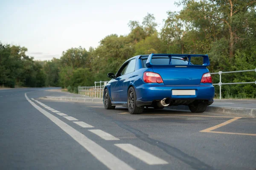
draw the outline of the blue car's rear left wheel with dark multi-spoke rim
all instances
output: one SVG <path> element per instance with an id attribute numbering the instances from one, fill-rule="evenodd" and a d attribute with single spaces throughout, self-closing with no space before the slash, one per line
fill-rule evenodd
<path id="1" fill-rule="evenodd" d="M 136 105 L 136 93 L 134 87 L 129 88 L 128 94 L 127 94 L 127 105 L 128 105 L 128 111 L 131 114 L 141 114 L 144 110 L 144 107 L 138 107 Z"/>

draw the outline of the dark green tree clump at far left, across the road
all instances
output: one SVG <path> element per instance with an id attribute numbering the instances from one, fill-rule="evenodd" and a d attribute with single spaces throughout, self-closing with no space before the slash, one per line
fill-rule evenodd
<path id="1" fill-rule="evenodd" d="M 14 88 L 43 87 L 42 66 L 26 56 L 25 47 L 0 43 L 0 85 Z"/>

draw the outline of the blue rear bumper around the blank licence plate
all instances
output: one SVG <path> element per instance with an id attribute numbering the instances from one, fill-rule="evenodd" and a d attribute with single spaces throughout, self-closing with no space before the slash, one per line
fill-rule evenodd
<path id="1" fill-rule="evenodd" d="M 195 90 L 195 95 L 177 96 L 172 95 L 172 90 Z M 138 106 L 151 105 L 155 100 L 170 98 L 172 100 L 208 100 L 208 105 L 213 103 L 215 88 L 212 84 L 201 85 L 162 85 L 143 84 L 135 88 Z"/>

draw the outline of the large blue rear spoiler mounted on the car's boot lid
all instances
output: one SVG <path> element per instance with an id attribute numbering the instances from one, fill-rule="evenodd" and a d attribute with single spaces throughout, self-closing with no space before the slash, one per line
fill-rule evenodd
<path id="1" fill-rule="evenodd" d="M 153 57 L 169 57 L 169 65 L 154 65 L 151 62 Z M 187 57 L 188 64 L 187 65 L 172 65 L 172 57 Z M 203 65 L 193 65 L 191 61 L 191 57 L 203 57 Z M 208 55 L 202 54 L 149 54 L 148 59 L 146 61 L 146 67 L 194 67 L 194 68 L 206 68 L 210 65 Z"/>

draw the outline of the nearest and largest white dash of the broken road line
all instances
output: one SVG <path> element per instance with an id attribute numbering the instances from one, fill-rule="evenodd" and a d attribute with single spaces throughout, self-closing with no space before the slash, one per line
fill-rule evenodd
<path id="1" fill-rule="evenodd" d="M 148 153 L 139 147 L 136 147 L 132 144 L 115 144 L 117 147 L 125 150 L 126 152 L 130 153 L 132 156 L 142 160 L 146 164 L 154 165 L 154 164 L 169 164 L 167 161 L 160 159 L 151 153 Z"/>

